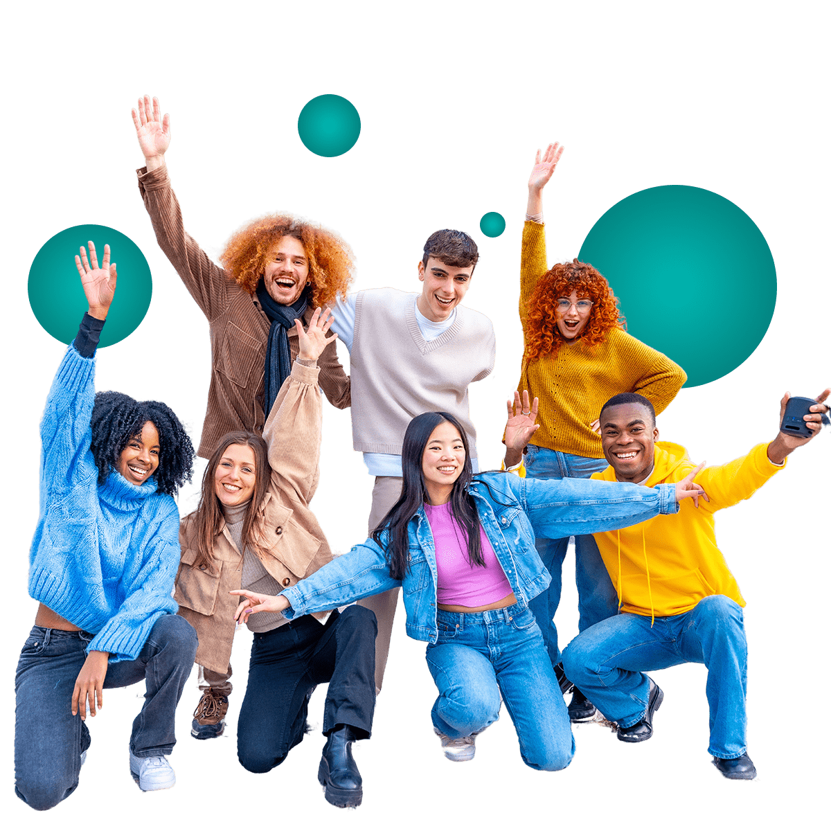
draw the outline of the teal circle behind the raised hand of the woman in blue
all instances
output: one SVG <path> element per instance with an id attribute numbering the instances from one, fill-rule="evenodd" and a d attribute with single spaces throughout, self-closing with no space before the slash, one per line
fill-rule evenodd
<path id="1" fill-rule="evenodd" d="M 116 294 L 101 332 L 101 347 L 109 347 L 135 332 L 153 295 L 145 255 L 120 231 L 106 225 L 75 225 L 47 239 L 29 268 L 29 305 L 37 322 L 57 341 L 68 344 L 75 340 L 81 317 L 89 308 L 75 255 L 81 245 L 89 248 L 89 240 L 95 243 L 99 265 L 104 245 L 110 245 L 111 262 L 116 263 L 118 272 Z"/>

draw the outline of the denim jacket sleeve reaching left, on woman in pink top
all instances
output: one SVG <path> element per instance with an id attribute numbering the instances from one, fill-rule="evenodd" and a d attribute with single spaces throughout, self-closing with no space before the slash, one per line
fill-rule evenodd
<path id="1" fill-rule="evenodd" d="M 390 567 L 374 539 L 352 546 L 309 577 L 287 588 L 283 595 L 290 606 L 283 612 L 289 619 L 345 606 L 362 597 L 401 586 L 390 577 Z"/>

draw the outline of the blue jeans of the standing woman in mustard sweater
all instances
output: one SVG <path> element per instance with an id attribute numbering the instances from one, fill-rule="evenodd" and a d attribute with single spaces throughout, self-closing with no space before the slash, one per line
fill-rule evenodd
<path id="1" fill-rule="evenodd" d="M 529 445 L 525 456 L 525 475 L 529 479 L 588 479 L 593 473 L 606 470 L 607 467 L 605 459 L 589 459 L 537 445 Z M 617 592 L 609 579 L 593 536 L 587 534 L 578 537 L 574 543 L 578 630 L 583 632 L 595 623 L 617 614 Z M 554 615 L 557 614 L 560 595 L 563 593 L 563 560 L 568 551 L 568 538 L 538 538 L 536 545 L 543 565 L 551 574 L 551 585 L 529 602 L 529 608 L 534 612 L 543 632 L 551 663 L 556 665 L 563 656 L 558 647 Z"/>

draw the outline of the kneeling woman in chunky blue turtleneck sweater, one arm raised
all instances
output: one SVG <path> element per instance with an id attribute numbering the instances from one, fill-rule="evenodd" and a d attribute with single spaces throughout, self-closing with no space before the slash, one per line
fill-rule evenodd
<path id="1" fill-rule="evenodd" d="M 130 774 L 142 790 L 172 788 L 167 755 L 196 636 L 175 614 L 179 565 L 175 495 L 194 445 L 162 401 L 96 393 L 96 346 L 116 290 L 105 246 L 76 256 L 89 312 L 66 349 L 40 425 L 40 509 L 29 551 L 39 602 L 15 675 L 15 792 L 54 808 L 78 785 L 103 690 L 145 681 L 130 735 Z"/>

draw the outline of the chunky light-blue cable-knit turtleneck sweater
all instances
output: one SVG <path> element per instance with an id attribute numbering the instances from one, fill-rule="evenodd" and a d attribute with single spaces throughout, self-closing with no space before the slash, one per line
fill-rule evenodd
<path id="1" fill-rule="evenodd" d="M 29 595 L 93 632 L 88 651 L 139 656 L 150 630 L 175 614 L 179 510 L 155 478 L 98 484 L 90 449 L 96 358 L 64 353 L 41 419 L 40 511 L 29 549 Z"/>

